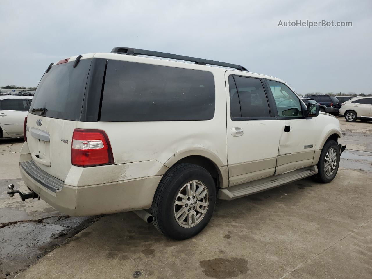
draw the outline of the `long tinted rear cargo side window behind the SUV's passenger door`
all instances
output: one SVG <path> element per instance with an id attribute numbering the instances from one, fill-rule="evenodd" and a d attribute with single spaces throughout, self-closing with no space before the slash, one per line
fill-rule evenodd
<path id="1" fill-rule="evenodd" d="M 192 121 L 214 117 L 207 71 L 109 60 L 101 121 Z"/>

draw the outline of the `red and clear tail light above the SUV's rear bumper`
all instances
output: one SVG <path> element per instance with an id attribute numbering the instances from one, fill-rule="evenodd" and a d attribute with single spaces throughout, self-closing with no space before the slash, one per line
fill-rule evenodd
<path id="1" fill-rule="evenodd" d="M 114 163 L 109 138 L 102 130 L 74 129 L 71 163 L 78 167 L 93 167 Z"/>

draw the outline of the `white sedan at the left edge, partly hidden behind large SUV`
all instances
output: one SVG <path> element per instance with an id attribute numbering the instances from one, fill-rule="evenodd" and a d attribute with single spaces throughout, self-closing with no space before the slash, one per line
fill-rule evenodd
<path id="1" fill-rule="evenodd" d="M 0 138 L 23 137 L 31 96 L 0 96 Z"/>

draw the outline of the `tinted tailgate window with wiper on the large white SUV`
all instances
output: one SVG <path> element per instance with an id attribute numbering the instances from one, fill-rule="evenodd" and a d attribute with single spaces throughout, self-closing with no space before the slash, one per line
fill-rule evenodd
<path id="1" fill-rule="evenodd" d="M 30 112 L 41 115 L 32 109 L 45 108 L 43 116 L 79 121 L 92 59 L 80 60 L 76 68 L 74 62 L 54 65 L 42 77 Z"/>

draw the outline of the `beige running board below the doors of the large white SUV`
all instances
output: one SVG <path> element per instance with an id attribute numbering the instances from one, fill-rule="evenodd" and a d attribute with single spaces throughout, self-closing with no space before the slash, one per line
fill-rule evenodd
<path id="1" fill-rule="evenodd" d="M 290 171 L 288 173 L 278 174 L 276 176 L 269 176 L 263 179 L 246 182 L 240 185 L 219 189 L 218 198 L 225 200 L 232 200 L 244 196 L 252 195 L 264 190 L 269 190 L 296 180 L 303 179 L 318 173 L 317 166 L 306 167 Z"/>

